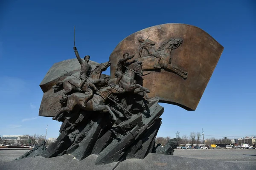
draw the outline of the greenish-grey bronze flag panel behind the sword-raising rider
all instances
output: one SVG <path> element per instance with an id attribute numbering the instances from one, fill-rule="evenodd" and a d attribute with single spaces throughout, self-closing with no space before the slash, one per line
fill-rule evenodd
<path id="1" fill-rule="evenodd" d="M 89 64 L 92 66 L 94 70 L 96 66 L 99 66 L 99 63 L 89 61 Z M 109 66 L 109 65 L 105 65 Z M 40 87 L 44 92 L 43 99 L 41 101 L 40 109 L 39 109 L 39 116 L 47 116 L 52 117 L 56 116 L 58 111 L 61 109 L 61 104 L 59 103 L 59 99 L 62 98 L 62 94 L 70 87 L 67 86 L 67 89 L 61 88 L 60 91 L 54 93 L 53 86 L 60 85 L 60 82 L 65 82 L 65 80 L 73 79 L 77 83 L 81 81 L 77 80 L 76 78 L 72 77 L 70 74 L 67 74 L 66 71 L 76 75 L 79 77 L 80 75 L 80 64 L 77 59 L 68 59 L 52 65 L 52 67 L 47 72 L 46 76 L 42 80 Z M 100 68 L 99 70 L 103 71 L 105 68 Z M 99 75 L 100 78 L 106 77 L 105 74 L 101 74 L 101 72 L 97 73 L 96 76 Z M 62 84 L 63 85 L 63 84 Z M 71 86 L 71 88 L 74 88 Z"/>

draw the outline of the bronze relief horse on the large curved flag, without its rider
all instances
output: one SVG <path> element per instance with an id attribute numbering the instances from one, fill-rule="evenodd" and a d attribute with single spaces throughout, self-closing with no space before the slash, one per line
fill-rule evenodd
<path id="1" fill-rule="evenodd" d="M 182 44 L 182 42 L 183 42 L 182 38 L 172 38 L 172 39 L 166 40 L 166 41 L 162 42 L 162 44 L 157 49 L 157 51 L 159 51 L 159 53 L 161 54 L 161 59 L 159 61 L 159 65 L 161 68 L 163 68 L 167 71 L 172 71 L 175 74 L 182 77 L 183 79 L 186 79 L 187 72 L 183 71 L 176 65 L 173 65 L 171 62 L 172 50 L 178 48 Z M 153 57 L 153 56 L 137 58 L 137 61 L 143 62 L 142 70 L 155 70 L 156 69 L 156 68 L 154 68 L 155 57 Z"/>

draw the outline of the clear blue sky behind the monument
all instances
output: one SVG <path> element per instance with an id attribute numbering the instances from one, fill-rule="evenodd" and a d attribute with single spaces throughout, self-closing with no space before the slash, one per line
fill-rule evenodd
<path id="1" fill-rule="evenodd" d="M 0 135 L 45 134 L 48 125 L 47 138 L 58 136 L 61 123 L 38 116 L 39 84 L 55 62 L 75 58 L 74 26 L 79 54 L 101 63 L 128 35 L 164 23 L 197 26 L 224 51 L 196 111 L 160 104 L 157 136 L 256 136 L 253 0 L 0 0 Z"/>

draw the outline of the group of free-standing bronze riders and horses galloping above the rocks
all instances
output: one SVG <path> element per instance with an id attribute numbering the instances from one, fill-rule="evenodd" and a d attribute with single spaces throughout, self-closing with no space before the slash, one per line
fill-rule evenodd
<path id="1" fill-rule="evenodd" d="M 107 110 L 113 120 L 117 120 L 115 113 L 119 117 L 124 117 L 124 115 L 115 107 L 125 109 L 126 105 L 129 105 L 127 100 L 120 99 L 118 94 L 141 94 L 141 96 L 147 96 L 146 93 L 150 92 L 147 88 L 137 83 L 141 82 L 141 76 L 143 76 L 142 62 L 137 60 L 127 62 L 134 55 L 124 54 L 123 58 L 117 63 L 116 78 L 110 79 L 110 77 L 100 77 L 102 71 L 105 71 L 111 65 L 111 62 L 102 63 L 92 70 L 88 63 L 90 56 L 85 56 L 84 60 L 82 60 L 76 47 L 74 47 L 74 50 L 81 65 L 80 76 L 79 79 L 77 77 L 70 77 L 52 87 L 55 92 L 62 88 L 65 90 L 63 97 L 60 99 L 63 107 L 53 119 L 58 119 L 60 114 L 72 111 L 76 105 L 79 105 L 84 111 Z M 127 95 L 121 96 L 125 97 Z M 110 102 L 112 102 L 112 105 L 114 103 L 115 107 Z M 131 114 L 127 109 L 125 110 L 124 112 Z"/>

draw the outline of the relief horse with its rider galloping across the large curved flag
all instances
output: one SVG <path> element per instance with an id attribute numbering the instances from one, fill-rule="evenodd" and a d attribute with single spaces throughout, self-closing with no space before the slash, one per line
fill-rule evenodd
<path id="1" fill-rule="evenodd" d="M 137 60 L 143 62 L 143 70 L 155 70 L 163 68 L 166 71 L 174 72 L 183 79 L 187 78 L 187 72 L 172 64 L 171 52 L 172 50 L 178 48 L 182 42 L 182 38 L 170 38 L 163 41 L 160 47 L 155 50 L 155 42 L 152 40 L 139 38 L 140 48 L 139 54 L 141 58 Z M 142 56 L 142 51 L 145 49 L 148 52 L 148 56 Z"/>

